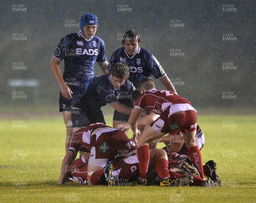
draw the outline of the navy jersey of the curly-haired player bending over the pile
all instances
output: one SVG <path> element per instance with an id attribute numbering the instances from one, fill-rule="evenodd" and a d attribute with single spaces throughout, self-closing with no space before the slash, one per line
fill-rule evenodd
<path id="1" fill-rule="evenodd" d="M 79 109 L 100 109 L 106 104 L 120 102 L 131 107 L 131 94 L 135 90 L 131 81 L 126 80 L 119 89 L 114 89 L 110 75 L 90 79 L 74 97 L 71 106 Z"/>

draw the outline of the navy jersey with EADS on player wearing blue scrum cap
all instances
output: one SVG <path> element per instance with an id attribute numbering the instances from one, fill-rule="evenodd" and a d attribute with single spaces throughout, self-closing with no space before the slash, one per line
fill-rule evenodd
<path id="1" fill-rule="evenodd" d="M 63 79 L 66 84 L 82 86 L 94 77 L 94 63 L 107 61 L 105 44 L 97 36 L 87 41 L 81 31 L 64 36 L 53 56 L 64 59 Z"/>

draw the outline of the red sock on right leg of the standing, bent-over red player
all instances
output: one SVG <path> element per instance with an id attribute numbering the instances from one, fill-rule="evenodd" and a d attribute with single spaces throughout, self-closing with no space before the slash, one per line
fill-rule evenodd
<path id="1" fill-rule="evenodd" d="M 192 159 L 193 165 L 198 169 L 201 178 L 204 178 L 203 162 L 201 152 L 198 146 L 188 148 L 190 158 Z"/>

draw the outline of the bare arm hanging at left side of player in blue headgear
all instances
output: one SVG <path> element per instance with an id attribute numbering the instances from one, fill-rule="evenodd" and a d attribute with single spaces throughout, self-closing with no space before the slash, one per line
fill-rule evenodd
<path id="1" fill-rule="evenodd" d="M 70 87 L 65 84 L 65 81 L 62 78 L 61 68 L 59 66 L 60 63 L 61 61 L 55 57 L 52 57 L 50 68 L 52 70 L 52 74 L 58 82 L 58 85 L 60 86 L 61 95 L 66 99 L 72 99 L 73 92 L 71 91 Z"/>

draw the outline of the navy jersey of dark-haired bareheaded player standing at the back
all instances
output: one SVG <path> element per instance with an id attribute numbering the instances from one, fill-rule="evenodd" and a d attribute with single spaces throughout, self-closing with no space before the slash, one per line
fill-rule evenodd
<path id="1" fill-rule="evenodd" d="M 117 62 L 123 62 L 130 67 L 129 80 L 134 84 L 135 87 L 139 86 L 140 81 L 154 75 L 155 78 L 160 79 L 166 73 L 157 61 L 157 59 L 147 50 L 138 47 L 137 53 L 132 57 L 125 51 L 125 47 L 121 47 L 113 52 L 109 65 L 106 68 L 107 71 L 111 71 L 111 67 Z"/>

